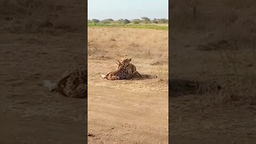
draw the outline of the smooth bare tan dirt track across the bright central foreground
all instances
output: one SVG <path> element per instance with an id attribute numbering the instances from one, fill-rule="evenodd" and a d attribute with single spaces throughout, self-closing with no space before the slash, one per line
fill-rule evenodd
<path id="1" fill-rule="evenodd" d="M 168 143 L 167 94 L 88 89 L 89 143 Z"/>

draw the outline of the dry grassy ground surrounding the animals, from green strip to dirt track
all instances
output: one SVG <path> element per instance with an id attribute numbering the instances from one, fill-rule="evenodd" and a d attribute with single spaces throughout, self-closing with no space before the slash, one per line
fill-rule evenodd
<path id="1" fill-rule="evenodd" d="M 168 31 L 132 28 L 88 29 L 89 75 L 116 69 L 115 61 L 120 60 L 121 56 L 132 58 L 131 63 L 137 67 L 142 78 L 115 84 L 89 77 L 89 82 L 136 92 L 152 93 L 152 89 L 167 91 Z M 102 65 L 102 62 L 105 64 Z"/>

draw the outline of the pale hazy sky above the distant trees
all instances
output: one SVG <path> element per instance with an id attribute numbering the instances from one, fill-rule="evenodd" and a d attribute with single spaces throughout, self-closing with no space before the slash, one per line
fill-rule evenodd
<path id="1" fill-rule="evenodd" d="M 88 19 L 168 19 L 168 0 L 88 0 Z"/>

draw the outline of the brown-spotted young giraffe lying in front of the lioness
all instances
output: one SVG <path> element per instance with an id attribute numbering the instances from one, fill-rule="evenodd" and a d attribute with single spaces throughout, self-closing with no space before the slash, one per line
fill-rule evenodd
<path id="1" fill-rule="evenodd" d="M 129 79 L 133 75 L 138 74 L 138 71 L 134 71 L 131 73 L 129 69 L 126 68 L 124 63 L 118 61 L 118 69 L 112 70 L 107 73 L 107 75 L 101 75 L 103 78 L 106 78 L 111 81 L 119 80 L 119 79 Z"/>

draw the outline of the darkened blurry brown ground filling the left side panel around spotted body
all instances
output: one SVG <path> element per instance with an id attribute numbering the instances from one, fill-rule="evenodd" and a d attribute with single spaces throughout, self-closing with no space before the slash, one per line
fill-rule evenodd
<path id="1" fill-rule="evenodd" d="M 5 2 L 0 10 L 0 143 L 85 143 L 86 100 L 43 86 L 44 80 L 57 82 L 64 70 L 84 63 L 79 61 L 86 58 L 86 31 L 79 26 L 86 25 L 83 1 L 30 3 L 33 14 L 22 13 L 28 9 L 23 4 Z M 41 6 L 50 14 L 41 13 Z M 69 25 L 73 20 L 80 22 Z"/>

